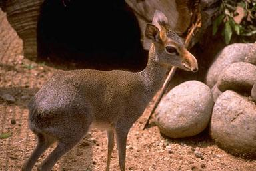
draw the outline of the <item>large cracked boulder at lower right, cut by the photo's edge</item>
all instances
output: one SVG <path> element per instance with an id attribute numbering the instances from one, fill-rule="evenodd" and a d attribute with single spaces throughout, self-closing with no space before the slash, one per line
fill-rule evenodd
<path id="1" fill-rule="evenodd" d="M 231 154 L 256 156 L 256 105 L 236 92 L 223 92 L 213 107 L 210 132 Z"/>

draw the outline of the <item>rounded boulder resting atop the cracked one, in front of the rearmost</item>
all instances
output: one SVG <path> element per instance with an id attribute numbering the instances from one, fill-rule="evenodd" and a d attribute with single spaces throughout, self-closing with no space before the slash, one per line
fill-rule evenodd
<path id="1" fill-rule="evenodd" d="M 238 62 L 229 65 L 217 81 L 217 87 L 221 92 L 234 90 L 235 92 L 251 92 L 256 81 L 256 65 Z"/>

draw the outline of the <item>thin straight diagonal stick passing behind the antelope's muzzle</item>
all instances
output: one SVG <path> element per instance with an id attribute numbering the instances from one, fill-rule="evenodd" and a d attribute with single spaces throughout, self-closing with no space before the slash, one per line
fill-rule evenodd
<path id="1" fill-rule="evenodd" d="M 189 33 L 187 34 L 187 37 L 185 39 L 185 47 L 189 47 L 189 43 L 192 39 L 193 33 L 194 33 L 195 29 L 197 28 L 197 26 L 199 25 L 200 22 L 201 22 L 201 19 L 197 18 L 197 22 L 195 23 L 195 25 L 194 24 L 192 25 L 191 30 L 189 31 Z M 149 118 L 147 118 L 147 122 L 144 125 L 143 130 L 145 130 L 145 128 L 149 124 L 149 120 L 150 120 L 152 114 L 155 112 L 155 109 L 157 108 L 159 102 L 161 101 L 161 99 L 163 97 L 163 94 L 165 94 L 165 90 L 167 88 L 167 85 L 169 85 L 169 82 L 173 78 L 173 75 L 175 74 L 176 69 L 177 69 L 177 67 L 171 67 L 171 70 L 169 71 L 169 74 L 167 75 L 167 77 L 165 79 L 165 83 L 163 83 L 163 86 L 161 87 L 159 95 L 157 96 L 157 100 L 155 100 L 155 103 L 153 104 L 153 108 L 152 108 L 152 110 L 149 114 Z"/>

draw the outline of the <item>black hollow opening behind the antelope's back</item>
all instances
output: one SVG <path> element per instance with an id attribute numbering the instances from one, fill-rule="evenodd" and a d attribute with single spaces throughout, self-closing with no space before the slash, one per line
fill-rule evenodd
<path id="1" fill-rule="evenodd" d="M 37 23 L 38 61 L 75 68 L 140 71 L 141 31 L 125 1 L 45 0 Z"/>

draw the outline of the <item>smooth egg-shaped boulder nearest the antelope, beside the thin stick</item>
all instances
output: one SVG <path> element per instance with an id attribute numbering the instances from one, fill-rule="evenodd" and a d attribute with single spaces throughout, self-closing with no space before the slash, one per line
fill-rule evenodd
<path id="1" fill-rule="evenodd" d="M 171 138 L 194 136 L 206 128 L 212 108 L 210 88 L 199 81 L 187 81 L 163 97 L 155 122 Z"/>

